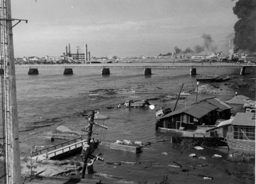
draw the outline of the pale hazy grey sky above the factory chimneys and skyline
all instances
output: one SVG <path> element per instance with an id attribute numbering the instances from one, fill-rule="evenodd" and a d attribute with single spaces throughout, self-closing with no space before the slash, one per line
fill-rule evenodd
<path id="1" fill-rule="evenodd" d="M 231 0 L 11 0 L 14 57 L 155 57 L 204 44 L 228 54 L 234 37 L 236 1 Z M 14 22 L 13 22 L 14 25 Z M 202 52 L 201 54 L 205 54 Z"/>

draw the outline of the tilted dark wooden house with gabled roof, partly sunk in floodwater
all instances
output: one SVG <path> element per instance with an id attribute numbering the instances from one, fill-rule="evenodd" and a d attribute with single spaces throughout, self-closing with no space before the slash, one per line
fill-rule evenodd
<path id="1" fill-rule="evenodd" d="M 231 106 L 220 99 L 204 99 L 157 117 L 156 129 L 196 130 L 198 126 L 214 125 L 218 119 L 228 120 L 231 109 Z"/>

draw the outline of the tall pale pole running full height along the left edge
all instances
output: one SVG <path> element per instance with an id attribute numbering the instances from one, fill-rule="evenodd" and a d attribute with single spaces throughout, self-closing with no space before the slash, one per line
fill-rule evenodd
<path id="1" fill-rule="evenodd" d="M 2 121 L 4 133 L 5 183 L 21 183 L 19 127 L 13 51 L 11 0 L 0 0 L 0 57 L 2 75 Z M 25 20 L 27 22 L 27 20 Z"/>

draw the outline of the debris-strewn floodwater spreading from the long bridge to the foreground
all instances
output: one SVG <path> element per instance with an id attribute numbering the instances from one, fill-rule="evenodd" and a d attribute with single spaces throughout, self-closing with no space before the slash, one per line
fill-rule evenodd
<path id="1" fill-rule="evenodd" d="M 163 102 L 157 97 L 177 94 L 181 83 L 184 83 L 183 92 L 195 91 L 196 78 L 205 74 L 229 75 L 230 78 L 237 80 L 241 78 L 244 81 L 252 80 L 255 78 L 255 68 L 250 68 L 245 76 L 239 75 L 240 69 L 230 70 L 226 67 L 198 69 L 196 76 L 190 76 L 189 69 L 152 69 L 153 75 L 150 76 L 143 75 L 143 69 L 111 69 L 109 76 L 102 76 L 99 69 L 83 68 L 73 69 L 74 75 L 64 76 L 63 70 L 49 67 L 39 69 L 39 75 L 31 76 L 27 74 L 28 68 L 16 67 L 19 129 L 34 126 L 33 122 L 45 118 L 63 117 L 62 121 L 51 126 L 20 132 L 22 156 L 28 156 L 32 146 L 40 149 L 61 143 L 60 140 L 54 142 L 45 140 L 47 133 L 54 131 L 60 124 L 85 134 L 81 128 L 87 125 L 86 119 L 74 114 L 99 109 L 99 114 L 108 117 L 107 120 L 95 120 L 108 127 L 105 141 L 130 140 L 151 142 L 151 144 L 145 146 L 142 153 L 137 154 L 100 146 L 96 153 L 104 153 L 104 163 L 97 161 L 94 165 L 96 173 L 87 176 L 88 178 L 101 179 L 105 183 L 155 183 L 160 182 L 164 176 L 168 176 L 173 183 L 255 183 L 254 163 L 229 161 L 228 155 L 236 150 L 228 152 L 227 149 L 213 148 L 184 149 L 178 144 L 171 145 L 168 141 L 163 143 L 163 139 L 168 140 L 173 134 L 155 130 L 155 110 L 129 109 L 123 105 L 116 108 L 125 100 L 152 99 L 149 102 L 154 103 L 156 108 L 164 106 L 173 109 L 176 100 Z M 232 99 L 236 90 L 224 83 L 214 83 L 214 85 L 221 87 L 219 91 L 223 88 L 225 93 L 199 94 L 198 99 L 211 96 L 217 96 L 224 102 Z M 250 92 L 249 88 L 240 88 L 237 91 L 255 100 L 255 92 Z M 196 93 L 192 93 L 192 96 L 194 98 L 179 100 L 176 109 L 194 103 Z M 233 112 L 243 111 L 242 105 L 231 106 L 234 106 Z M 95 135 L 95 139 L 103 140 L 101 131 L 100 128 L 95 129 L 95 132 L 99 133 Z M 197 157 L 189 157 L 192 153 Z M 213 158 L 214 154 L 221 155 L 222 158 Z M 199 159 L 201 156 L 205 159 Z M 79 155 L 69 159 L 81 161 Z M 113 165 L 121 161 L 136 162 L 136 164 Z M 182 167 L 169 167 L 168 165 L 173 165 L 173 161 Z M 198 174 L 211 176 L 213 180 L 204 179 Z"/>

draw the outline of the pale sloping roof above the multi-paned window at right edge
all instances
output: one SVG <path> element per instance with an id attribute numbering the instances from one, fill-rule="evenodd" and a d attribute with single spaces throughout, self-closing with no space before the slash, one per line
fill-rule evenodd
<path id="1" fill-rule="evenodd" d="M 255 126 L 255 113 L 237 112 L 232 124 L 240 126 Z"/>

